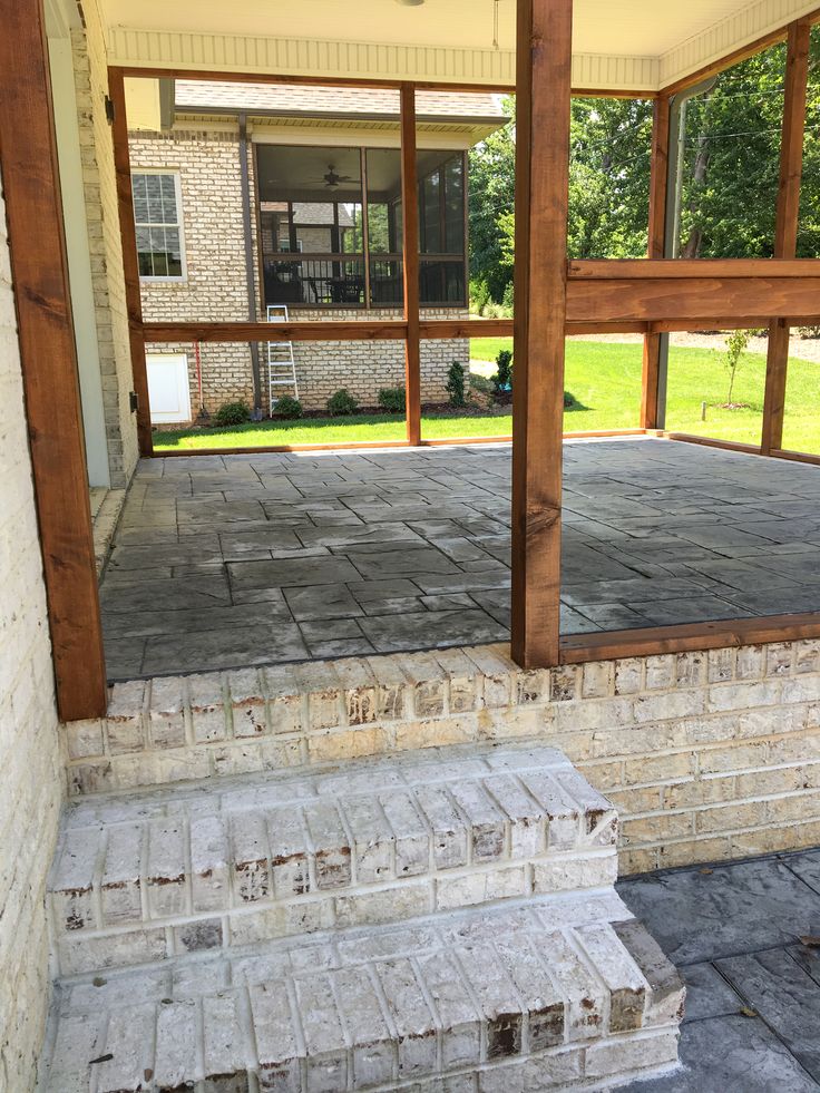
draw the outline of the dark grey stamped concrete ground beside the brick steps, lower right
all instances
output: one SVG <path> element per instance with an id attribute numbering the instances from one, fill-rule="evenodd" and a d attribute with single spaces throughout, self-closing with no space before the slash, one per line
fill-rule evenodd
<path id="1" fill-rule="evenodd" d="M 820 1090 L 820 850 L 617 887 L 686 983 L 682 1068 L 621 1093 Z"/>

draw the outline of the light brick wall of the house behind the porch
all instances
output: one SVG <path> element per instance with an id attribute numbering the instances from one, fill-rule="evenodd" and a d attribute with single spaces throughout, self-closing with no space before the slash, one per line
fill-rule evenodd
<path id="1" fill-rule="evenodd" d="M 131 168 L 168 168 L 179 173 L 185 237 L 185 281 L 141 282 L 146 321 L 242 322 L 248 319 L 238 136 L 221 130 L 172 133 L 135 131 L 129 136 Z M 254 156 L 248 153 L 253 189 Z M 252 218 L 254 244 L 256 223 Z M 256 265 L 254 292 L 264 318 Z M 466 309 L 424 309 L 428 319 L 467 318 Z M 397 319 L 396 308 L 293 309 L 300 321 Z M 199 410 L 194 347 L 147 347 L 149 353 L 185 352 L 194 417 Z M 469 368 L 469 341 L 424 341 L 421 351 L 422 402 L 447 401 L 447 372 L 453 360 Z M 299 396 L 308 410 L 323 410 L 334 391 L 346 388 L 361 406 L 374 407 L 381 388 L 404 381 L 404 349 L 401 342 L 296 342 L 294 344 Z M 251 352 L 246 344 L 203 344 L 199 348 L 203 404 L 214 413 L 224 402 L 253 403 Z M 267 347 L 260 345 L 263 407 L 267 409 Z M 282 388 L 282 394 L 293 394 Z"/>

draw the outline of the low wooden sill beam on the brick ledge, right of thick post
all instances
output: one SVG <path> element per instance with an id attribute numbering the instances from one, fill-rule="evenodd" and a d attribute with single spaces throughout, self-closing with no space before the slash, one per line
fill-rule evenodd
<path id="1" fill-rule="evenodd" d="M 820 612 L 769 615 L 765 618 L 726 618 L 679 626 L 652 626 L 609 633 L 569 634 L 562 640 L 563 664 L 614 661 L 625 656 L 682 653 L 767 642 L 820 637 Z"/>

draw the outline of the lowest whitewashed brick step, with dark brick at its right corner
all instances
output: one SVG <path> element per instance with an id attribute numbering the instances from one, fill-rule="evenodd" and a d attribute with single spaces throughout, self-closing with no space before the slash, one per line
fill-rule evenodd
<path id="1" fill-rule="evenodd" d="M 683 987 L 614 891 L 62 980 L 45 1093 L 596 1089 L 677 1060 Z"/>

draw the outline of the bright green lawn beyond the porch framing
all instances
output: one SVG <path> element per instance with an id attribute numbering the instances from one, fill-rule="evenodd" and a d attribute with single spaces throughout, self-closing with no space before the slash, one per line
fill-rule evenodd
<path id="1" fill-rule="evenodd" d="M 500 349 L 511 349 L 509 338 L 474 339 L 475 361 L 492 361 Z M 567 432 L 598 429 L 629 429 L 638 424 L 641 404 L 641 345 L 614 342 L 568 341 L 566 390 L 577 408 L 565 413 Z M 477 371 L 491 373 L 488 365 Z M 666 428 L 695 432 L 724 440 L 756 443 L 760 440 L 765 358 L 743 357 L 735 379 L 734 402 L 743 409 L 724 410 L 729 374 L 723 353 L 712 349 L 676 349 L 670 353 Z M 701 403 L 706 402 L 706 420 Z M 427 439 L 458 437 L 500 437 L 511 432 L 509 413 L 451 418 L 422 417 Z M 264 421 L 231 429 L 188 429 L 154 433 L 154 445 L 163 449 L 233 448 L 269 445 L 357 443 L 403 440 L 403 419 L 391 414 L 353 418 L 311 418 L 304 421 Z M 820 452 L 820 364 L 792 359 L 783 446 Z"/>

